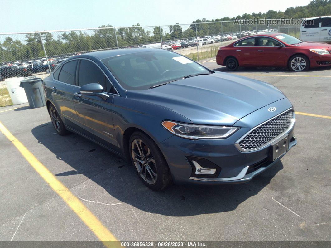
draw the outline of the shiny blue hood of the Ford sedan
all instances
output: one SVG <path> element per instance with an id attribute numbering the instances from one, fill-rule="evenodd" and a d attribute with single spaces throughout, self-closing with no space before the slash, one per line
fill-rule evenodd
<path id="1" fill-rule="evenodd" d="M 271 84 L 221 72 L 147 90 L 128 90 L 126 97 L 162 106 L 195 124 L 214 125 L 233 125 L 244 116 L 286 98 Z"/>

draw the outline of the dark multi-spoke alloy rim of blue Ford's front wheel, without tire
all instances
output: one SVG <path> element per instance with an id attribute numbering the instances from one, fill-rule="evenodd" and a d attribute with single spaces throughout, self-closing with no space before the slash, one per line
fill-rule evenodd
<path id="1" fill-rule="evenodd" d="M 141 139 L 132 141 L 131 155 L 139 175 L 148 184 L 155 184 L 158 179 L 155 159 L 144 141 Z"/>

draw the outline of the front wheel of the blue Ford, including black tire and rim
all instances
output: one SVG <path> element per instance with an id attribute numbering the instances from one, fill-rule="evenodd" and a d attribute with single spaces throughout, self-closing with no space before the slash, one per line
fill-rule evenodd
<path id="1" fill-rule="evenodd" d="M 168 164 L 159 147 L 149 136 L 139 131 L 132 133 L 128 149 L 131 163 L 147 187 L 162 190 L 170 185 L 171 174 Z"/>

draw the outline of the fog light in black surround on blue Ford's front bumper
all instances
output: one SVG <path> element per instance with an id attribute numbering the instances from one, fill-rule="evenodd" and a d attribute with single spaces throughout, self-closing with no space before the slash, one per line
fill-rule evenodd
<path id="1" fill-rule="evenodd" d="M 192 167 L 191 177 L 217 178 L 221 168 L 213 162 L 197 157 L 186 157 Z"/>

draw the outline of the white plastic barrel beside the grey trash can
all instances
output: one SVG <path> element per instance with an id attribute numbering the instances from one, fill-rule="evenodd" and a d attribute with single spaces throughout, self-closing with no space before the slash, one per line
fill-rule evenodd
<path id="1" fill-rule="evenodd" d="M 20 83 L 23 79 L 24 77 L 10 77 L 5 79 L 5 83 L 13 105 L 27 102 L 25 91 L 20 87 Z"/>

